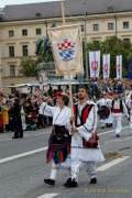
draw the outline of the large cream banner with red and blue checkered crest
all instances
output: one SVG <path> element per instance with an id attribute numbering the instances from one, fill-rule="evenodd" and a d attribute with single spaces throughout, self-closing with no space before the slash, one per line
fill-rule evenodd
<path id="1" fill-rule="evenodd" d="M 61 75 L 67 73 L 82 74 L 82 42 L 80 25 L 65 25 L 50 29 L 50 37 L 56 72 Z"/>

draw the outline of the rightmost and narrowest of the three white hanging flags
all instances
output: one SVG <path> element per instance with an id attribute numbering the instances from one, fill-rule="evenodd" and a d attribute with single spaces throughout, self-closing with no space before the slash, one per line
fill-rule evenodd
<path id="1" fill-rule="evenodd" d="M 122 78 L 122 55 L 117 56 L 116 68 L 117 68 L 117 79 L 121 79 Z"/>

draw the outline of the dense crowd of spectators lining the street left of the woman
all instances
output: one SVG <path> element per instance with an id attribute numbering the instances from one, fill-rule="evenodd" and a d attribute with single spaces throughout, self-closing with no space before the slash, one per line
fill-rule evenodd
<path id="1" fill-rule="evenodd" d="M 21 118 L 22 130 L 36 130 L 52 123 L 52 118 L 41 113 L 43 98 L 35 95 L 10 95 L 0 92 L 0 132 L 14 131 Z M 19 123 L 18 123 L 19 124 Z"/>

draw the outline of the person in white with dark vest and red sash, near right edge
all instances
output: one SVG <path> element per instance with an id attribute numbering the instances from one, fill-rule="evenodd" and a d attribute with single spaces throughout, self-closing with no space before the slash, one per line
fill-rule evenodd
<path id="1" fill-rule="evenodd" d="M 116 130 L 116 136 L 120 138 L 120 133 L 122 130 L 122 116 L 124 113 L 127 119 L 129 119 L 129 112 L 118 90 L 114 90 L 114 98 L 111 103 L 111 112 L 113 119 L 113 128 Z"/>

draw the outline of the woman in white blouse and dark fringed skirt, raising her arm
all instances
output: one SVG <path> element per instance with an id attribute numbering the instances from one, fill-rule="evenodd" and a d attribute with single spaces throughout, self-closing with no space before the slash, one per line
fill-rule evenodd
<path id="1" fill-rule="evenodd" d="M 46 155 L 47 163 L 52 163 L 50 178 L 44 183 L 51 186 L 55 185 L 57 169 L 68 157 L 70 152 L 69 119 L 70 108 L 67 107 L 68 97 L 63 94 L 56 94 L 56 106 L 51 107 L 45 103 L 44 114 L 53 117 L 53 131 L 48 140 L 48 150 Z"/>

